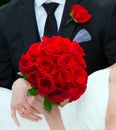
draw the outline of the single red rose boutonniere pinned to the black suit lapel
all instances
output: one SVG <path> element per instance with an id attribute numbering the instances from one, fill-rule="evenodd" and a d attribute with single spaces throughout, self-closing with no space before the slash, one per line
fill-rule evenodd
<path id="1" fill-rule="evenodd" d="M 71 7 L 70 16 L 71 18 L 67 21 L 66 25 L 71 21 L 83 24 L 88 22 L 92 17 L 88 10 L 80 4 L 75 4 Z"/>

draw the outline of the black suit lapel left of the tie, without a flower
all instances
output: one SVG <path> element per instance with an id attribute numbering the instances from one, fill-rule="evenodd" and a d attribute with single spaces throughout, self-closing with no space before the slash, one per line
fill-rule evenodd
<path id="1" fill-rule="evenodd" d="M 19 9 L 19 26 L 26 50 L 33 42 L 40 41 L 34 14 L 34 0 L 25 0 Z"/>

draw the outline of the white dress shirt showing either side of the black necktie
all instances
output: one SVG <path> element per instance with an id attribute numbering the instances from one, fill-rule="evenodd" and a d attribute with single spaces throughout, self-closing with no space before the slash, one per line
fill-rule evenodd
<path id="1" fill-rule="evenodd" d="M 42 7 L 42 4 L 50 3 L 50 2 L 56 2 L 59 4 L 54 15 L 56 17 L 58 29 L 60 27 L 66 0 L 35 0 L 34 9 L 35 9 L 35 16 L 36 16 L 37 27 L 38 27 L 40 37 L 42 37 L 44 34 L 44 25 L 45 25 L 46 18 L 47 18 L 47 13 L 46 13 L 45 9 Z"/>

